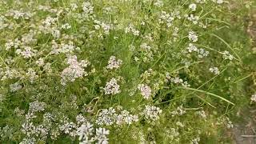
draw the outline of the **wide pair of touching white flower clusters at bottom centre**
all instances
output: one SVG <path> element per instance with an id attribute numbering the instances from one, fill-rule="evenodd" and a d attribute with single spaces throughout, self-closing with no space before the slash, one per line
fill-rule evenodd
<path id="1" fill-rule="evenodd" d="M 117 125 L 130 125 L 133 122 L 138 122 L 138 115 L 130 114 L 127 110 L 122 110 L 120 114 L 112 107 L 104 109 L 98 114 L 96 123 L 98 125 L 111 126 L 114 123 Z"/>

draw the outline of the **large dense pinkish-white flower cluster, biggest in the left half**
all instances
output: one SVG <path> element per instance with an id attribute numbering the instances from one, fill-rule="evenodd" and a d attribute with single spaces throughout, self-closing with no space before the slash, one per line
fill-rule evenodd
<path id="1" fill-rule="evenodd" d="M 61 74 L 61 82 L 63 86 L 66 85 L 66 82 L 74 82 L 76 78 L 82 78 L 84 75 L 86 76 L 87 73 L 84 68 L 87 67 L 90 62 L 86 60 L 78 62 L 77 57 L 73 55 L 67 58 L 67 64 L 69 64 L 70 66 L 64 69 Z"/>

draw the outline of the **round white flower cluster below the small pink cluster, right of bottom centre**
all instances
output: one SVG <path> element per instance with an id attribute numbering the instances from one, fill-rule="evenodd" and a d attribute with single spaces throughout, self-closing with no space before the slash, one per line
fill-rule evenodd
<path id="1" fill-rule="evenodd" d="M 159 114 L 162 114 L 162 110 L 156 106 L 145 106 L 145 110 L 143 110 L 143 114 L 146 119 L 157 121 L 160 117 Z"/>

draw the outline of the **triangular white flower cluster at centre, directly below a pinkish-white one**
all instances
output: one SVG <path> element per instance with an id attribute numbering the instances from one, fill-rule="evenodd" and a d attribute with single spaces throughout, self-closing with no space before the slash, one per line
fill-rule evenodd
<path id="1" fill-rule="evenodd" d="M 111 78 L 110 82 L 106 82 L 103 90 L 105 94 L 119 94 L 121 92 L 118 81 L 115 78 Z"/>

